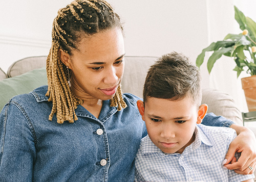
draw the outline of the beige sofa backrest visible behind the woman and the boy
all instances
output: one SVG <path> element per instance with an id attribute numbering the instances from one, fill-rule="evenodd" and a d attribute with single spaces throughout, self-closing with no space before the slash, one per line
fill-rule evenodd
<path id="1" fill-rule="evenodd" d="M 16 76 L 30 70 L 46 66 L 47 56 L 29 57 L 13 63 L 8 69 L 8 76 Z M 132 93 L 142 98 L 143 85 L 148 68 L 155 63 L 157 57 L 125 56 L 125 67 L 122 80 L 124 93 Z M 242 125 L 242 115 L 232 97 L 219 90 L 204 89 L 202 103 L 209 106 L 208 113 L 224 116 Z"/>

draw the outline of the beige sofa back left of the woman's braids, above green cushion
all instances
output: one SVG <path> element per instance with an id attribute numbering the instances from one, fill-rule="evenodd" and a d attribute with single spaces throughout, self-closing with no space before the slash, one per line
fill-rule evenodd
<path id="1" fill-rule="evenodd" d="M 7 70 L 8 77 L 14 77 L 33 69 L 46 67 L 47 56 L 28 57 L 14 62 Z"/>

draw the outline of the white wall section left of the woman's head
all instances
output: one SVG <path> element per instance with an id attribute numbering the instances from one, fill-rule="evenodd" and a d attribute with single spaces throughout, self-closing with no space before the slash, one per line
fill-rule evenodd
<path id="1" fill-rule="evenodd" d="M 16 60 L 48 55 L 51 46 L 52 21 L 59 8 L 70 0 L 1 1 L 0 67 L 7 68 Z"/>

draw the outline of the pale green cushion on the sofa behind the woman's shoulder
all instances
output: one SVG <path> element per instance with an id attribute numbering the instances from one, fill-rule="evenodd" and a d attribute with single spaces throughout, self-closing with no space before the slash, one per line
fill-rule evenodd
<path id="1" fill-rule="evenodd" d="M 46 68 L 34 69 L 0 82 L 0 111 L 14 96 L 29 93 L 37 87 L 47 85 Z"/>

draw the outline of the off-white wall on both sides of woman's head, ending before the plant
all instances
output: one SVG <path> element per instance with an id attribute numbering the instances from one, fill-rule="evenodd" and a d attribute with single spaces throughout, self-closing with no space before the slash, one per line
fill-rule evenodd
<path id="1" fill-rule="evenodd" d="M 0 67 L 7 71 L 15 60 L 47 55 L 52 21 L 57 10 L 70 2 L 4 1 L 0 11 L 0 16 L 6 17 L 0 20 Z M 109 2 L 124 22 L 126 55 L 161 56 L 175 50 L 194 61 L 208 44 L 204 0 Z"/>

